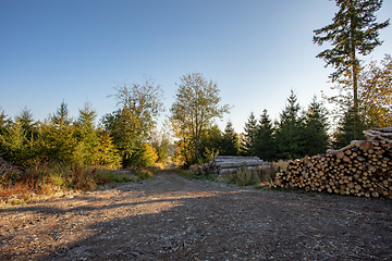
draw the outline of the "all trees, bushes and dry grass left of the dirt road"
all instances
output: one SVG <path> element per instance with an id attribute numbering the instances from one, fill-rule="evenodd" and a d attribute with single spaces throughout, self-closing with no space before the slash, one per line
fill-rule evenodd
<path id="1" fill-rule="evenodd" d="M 139 182 L 164 167 L 169 141 L 154 132 L 162 109 L 159 86 L 146 79 L 142 86 L 122 84 L 114 90 L 119 109 L 98 123 L 89 103 L 72 119 L 63 101 L 44 122 L 35 121 L 27 108 L 14 119 L 0 111 L 2 203 Z"/>

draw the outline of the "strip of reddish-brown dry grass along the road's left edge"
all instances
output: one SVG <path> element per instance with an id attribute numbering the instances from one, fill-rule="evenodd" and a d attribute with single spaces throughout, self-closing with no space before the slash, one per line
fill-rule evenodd
<path id="1" fill-rule="evenodd" d="M 158 171 L 158 167 L 140 169 L 130 174 L 99 166 L 29 162 L 24 172 L 9 171 L 0 176 L 0 208 L 95 190 L 106 183 L 139 182 Z"/>

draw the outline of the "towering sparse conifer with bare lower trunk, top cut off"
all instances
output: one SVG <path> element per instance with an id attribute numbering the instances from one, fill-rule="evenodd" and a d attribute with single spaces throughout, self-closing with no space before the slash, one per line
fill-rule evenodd
<path id="1" fill-rule="evenodd" d="M 332 82 L 343 74 L 352 77 L 354 111 L 358 103 L 358 54 L 367 55 L 382 41 L 379 30 L 389 25 L 389 20 L 376 23 L 375 13 L 381 8 L 382 0 L 335 0 L 339 12 L 333 23 L 314 30 L 314 42 L 330 42 L 332 48 L 320 52 L 317 58 L 336 71 L 331 74 Z"/>

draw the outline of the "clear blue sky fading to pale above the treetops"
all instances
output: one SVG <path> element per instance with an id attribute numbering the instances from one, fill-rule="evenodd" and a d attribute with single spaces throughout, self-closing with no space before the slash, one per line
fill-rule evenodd
<path id="1" fill-rule="evenodd" d="M 0 0 L 0 107 L 44 120 L 63 100 L 74 117 L 89 101 L 101 117 L 117 83 L 147 75 L 169 109 L 175 83 L 198 72 L 234 105 L 221 128 L 231 120 L 241 133 L 252 111 L 279 117 L 292 88 L 303 107 L 329 91 L 313 30 L 334 12 L 328 0 Z M 378 21 L 391 16 L 387 0 Z M 392 52 L 392 27 L 380 38 L 369 58 Z"/>

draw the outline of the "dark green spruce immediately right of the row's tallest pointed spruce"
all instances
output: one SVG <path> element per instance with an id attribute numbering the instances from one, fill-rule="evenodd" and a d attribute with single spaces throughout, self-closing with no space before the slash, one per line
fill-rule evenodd
<path id="1" fill-rule="evenodd" d="M 308 156 L 322 154 L 329 146 L 327 109 L 315 96 L 305 112 L 306 151 Z"/>

